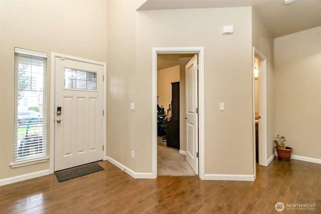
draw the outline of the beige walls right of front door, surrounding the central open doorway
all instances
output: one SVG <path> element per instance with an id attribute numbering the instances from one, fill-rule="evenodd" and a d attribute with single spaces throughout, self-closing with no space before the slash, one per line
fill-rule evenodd
<path id="1" fill-rule="evenodd" d="M 131 1 L 108 2 L 108 78 L 115 83 L 109 83 L 107 154 L 137 173 L 152 172 L 152 48 L 204 46 L 206 173 L 252 175 L 251 8 L 135 7 Z M 234 25 L 235 33 L 222 36 L 224 25 Z M 133 112 L 126 107 L 130 100 Z M 220 102 L 226 103 L 224 112 Z"/>

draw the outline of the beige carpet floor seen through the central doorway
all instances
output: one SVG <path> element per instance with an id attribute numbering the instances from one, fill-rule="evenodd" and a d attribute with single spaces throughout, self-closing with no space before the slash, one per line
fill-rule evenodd
<path id="1" fill-rule="evenodd" d="M 186 161 L 184 154 L 166 147 L 162 139 L 157 142 L 157 175 L 158 176 L 195 176 L 195 172 Z"/>

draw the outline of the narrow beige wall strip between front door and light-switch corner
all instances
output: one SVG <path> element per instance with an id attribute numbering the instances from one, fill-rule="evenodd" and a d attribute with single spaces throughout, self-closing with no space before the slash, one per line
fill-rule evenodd
<path id="1" fill-rule="evenodd" d="M 135 13 L 144 1 L 107 1 L 108 4 L 108 63 L 107 63 L 107 156 L 133 171 L 139 159 L 135 141 L 141 141 L 136 120 L 146 123 L 147 100 L 137 103 Z M 147 60 L 147 59 L 146 59 Z M 140 81 L 147 81 L 145 77 Z M 145 82 L 144 84 L 146 84 Z M 155 101 L 156 102 L 156 101 Z M 135 111 L 130 111 L 135 103 Z M 137 110 L 142 113 L 137 116 Z M 151 144 L 151 142 L 150 142 Z M 131 158 L 135 151 L 135 159 Z M 144 154 L 149 156 L 149 154 Z M 143 165 L 148 164 L 147 162 Z"/>

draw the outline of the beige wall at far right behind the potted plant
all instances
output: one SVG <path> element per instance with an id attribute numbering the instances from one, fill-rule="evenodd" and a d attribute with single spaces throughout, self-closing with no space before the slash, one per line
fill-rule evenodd
<path id="1" fill-rule="evenodd" d="M 293 155 L 321 159 L 321 27 L 276 38 L 276 133 Z"/>

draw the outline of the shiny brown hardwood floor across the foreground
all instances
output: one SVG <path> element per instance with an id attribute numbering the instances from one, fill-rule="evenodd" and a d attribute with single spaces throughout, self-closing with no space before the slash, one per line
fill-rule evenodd
<path id="1" fill-rule="evenodd" d="M 133 179 L 108 161 L 93 174 L 58 183 L 54 174 L 0 187 L 0 213 L 321 213 L 321 164 L 276 158 L 255 181 L 197 176 Z M 314 204 L 289 210 L 287 205 Z M 298 206 L 298 205 L 296 205 Z"/>

